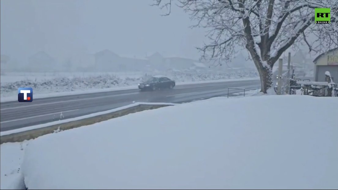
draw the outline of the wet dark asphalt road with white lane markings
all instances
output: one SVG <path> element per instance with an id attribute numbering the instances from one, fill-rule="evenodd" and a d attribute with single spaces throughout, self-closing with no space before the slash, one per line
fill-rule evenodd
<path id="1" fill-rule="evenodd" d="M 34 99 L 30 103 L 0 103 L 0 131 L 106 111 L 135 102 L 183 103 L 214 96 L 226 96 L 228 87 L 256 90 L 259 80 L 178 85 L 171 90 L 140 92 L 138 89 Z M 230 89 L 229 94 L 243 91 Z"/>

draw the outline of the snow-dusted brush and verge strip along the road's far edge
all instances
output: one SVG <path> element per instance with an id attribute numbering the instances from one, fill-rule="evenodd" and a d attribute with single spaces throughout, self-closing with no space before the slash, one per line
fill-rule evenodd
<path id="1" fill-rule="evenodd" d="M 120 76 L 121 75 L 121 76 Z M 46 94 L 55 92 L 72 92 L 84 90 L 97 90 L 97 89 L 110 89 L 114 87 L 132 87 L 136 88 L 137 84 L 142 82 L 145 76 L 132 75 L 125 76 L 122 74 L 102 74 L 83 75 L 83 76 L 63 76 L 48 79 L 34 80 L 27 78 L 25 80 L 15 82 L 7 81 L 3 78 L 10 76 L 1 76 L 0 83 L 0 96 L 3 97 L 17 97 L 19 87 L 32 87 L 34 94 Z M 143 74 L 145 75 L 145 73 Z M 222 79 L 242 79 L 242 78 L 255 78 L 258 74 L 254 70 L 250 71 L 236 71 L 226 73 L 215 72 L 179 72 L 170 71 L 165 73 L 148 73 L 147 77 L 151 75 L 165 75 L 175 80 L 176 82 L 193 82 L 193 81 L 209 81 L 209 80 L 222 80 Z M 20 79 L 20 77 L 19 77 Z M 22 79 L 22 78 L 21 78 Z"/>

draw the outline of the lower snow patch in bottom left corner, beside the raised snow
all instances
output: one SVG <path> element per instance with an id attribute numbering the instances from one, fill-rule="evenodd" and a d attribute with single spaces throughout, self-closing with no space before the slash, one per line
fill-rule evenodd
<path id="1" fill-rule="evenodd" d="M 0 145 L 0 189 L 25 189 L 21 163 L 28 142 Z"/>

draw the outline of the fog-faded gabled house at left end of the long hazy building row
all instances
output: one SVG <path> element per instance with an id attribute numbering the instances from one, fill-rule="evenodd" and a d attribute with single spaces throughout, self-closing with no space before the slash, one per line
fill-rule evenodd
<path id="1" fill-rule="evenodd" d="M 94 54 L 95 68 L 97 71 L 121 71 L 125 65 L 121 63 L 121 57 L 110 50 L 103 50 Z"/>

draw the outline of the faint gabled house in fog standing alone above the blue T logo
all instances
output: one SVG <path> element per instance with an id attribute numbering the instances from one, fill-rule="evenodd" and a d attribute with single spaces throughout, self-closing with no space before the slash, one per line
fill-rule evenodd
<path id="1" fill-rule="evenodd" d="M 55 68 L 55 59 L 44 51 L 39 51 L 28 58 L 27 70 L 34 72 L 49 72 Z"/>

